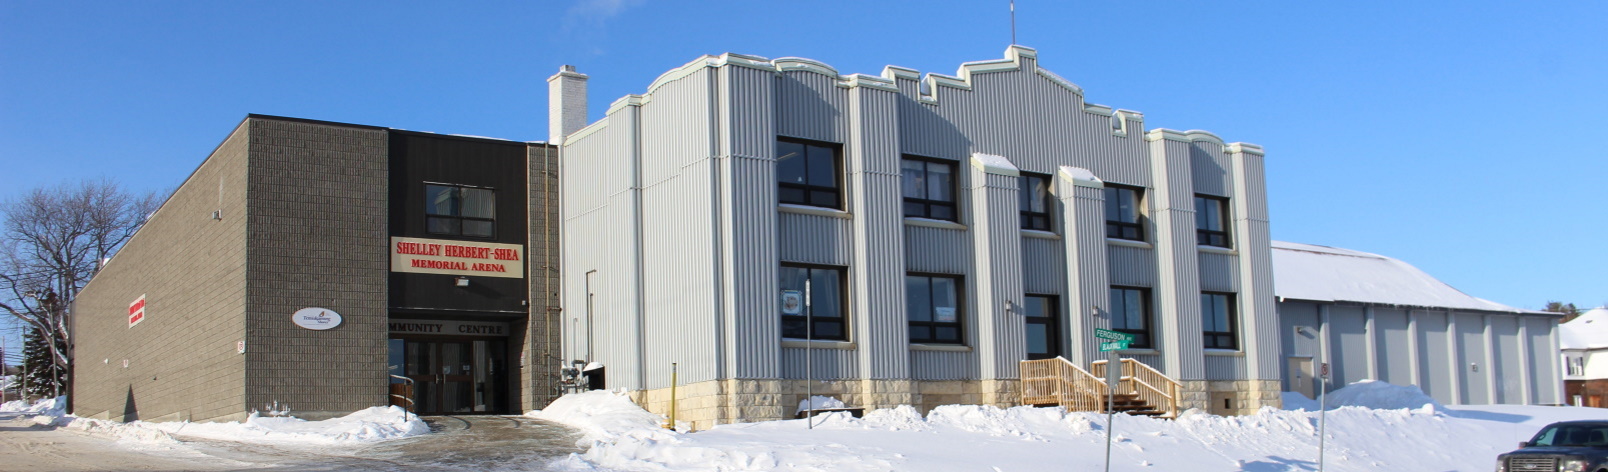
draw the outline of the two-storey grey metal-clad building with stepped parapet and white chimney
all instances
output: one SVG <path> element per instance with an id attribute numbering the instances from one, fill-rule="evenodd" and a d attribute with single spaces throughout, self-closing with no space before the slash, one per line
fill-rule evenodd
<path id="1" fill-rule="evenodd" d="M 585 75 L 550 83 L 584 117 Z M 1016 405 L 1021 360 L 1087 368 L 1095 329 L 1183 408 L 1278 403 L 1261 148 L 1147 130 L 1032 48 L 955 75 L 704 56 L 564 122 L 564 355 L 650 411 L 672 364 L 699 427 L 806 390 Z"/>

